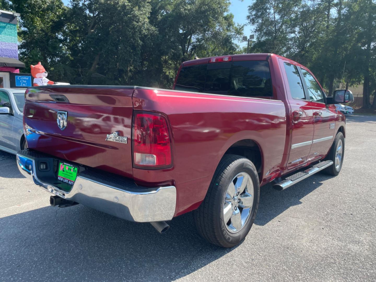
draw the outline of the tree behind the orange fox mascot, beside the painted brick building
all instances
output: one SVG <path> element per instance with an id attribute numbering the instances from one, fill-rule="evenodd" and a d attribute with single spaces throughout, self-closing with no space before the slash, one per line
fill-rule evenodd
<path id="1" fill-rule="evenodd" d="M 24 71 L 41 61 L 50 71 L 51 80 L 70 80 L 69 70 L 61 67 L 69 62 L 61 35 L 67 7 L 61 0 L 13 0 L 10 8 L 21 14 L 18 49 L 20 60 L 26 65 Z"/>

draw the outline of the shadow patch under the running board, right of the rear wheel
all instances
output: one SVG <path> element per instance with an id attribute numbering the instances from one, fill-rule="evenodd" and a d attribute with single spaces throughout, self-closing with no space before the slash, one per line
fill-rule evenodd
<path id="1" fill-rule="evenodd" d="M 273 189 L 271 183 L 262 186 L 255 224 L 263 226 L 291 206 L 300 205 L 303 197 L 323 185 L 322 182 L 331 177 L 317 173 L 283 191 Z"/>

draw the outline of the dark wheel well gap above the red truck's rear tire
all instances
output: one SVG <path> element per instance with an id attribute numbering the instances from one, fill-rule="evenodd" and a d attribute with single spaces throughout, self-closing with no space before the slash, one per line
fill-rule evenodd
<path id="1" fill-rule="evenodd" d="M 257 173 L 259 174 L 259 179 L 262 179 L 262 153 L 260 147 L 255 141 L 251 139 L 240 140 L 227 149 L 224 154 L 239 155 L 249 159 L 255 165 Z"/>

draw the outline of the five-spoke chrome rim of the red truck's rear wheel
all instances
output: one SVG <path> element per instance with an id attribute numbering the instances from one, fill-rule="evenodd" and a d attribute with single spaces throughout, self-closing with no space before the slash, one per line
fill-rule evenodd
<path id="1" fill-rule="evenodd" d="M 227 188 L 223 204 L 223 221 L 231 233 L 239 232 L 247 222 L 253 205 L 253 182 L 248 173 L 235 176 Z"/>

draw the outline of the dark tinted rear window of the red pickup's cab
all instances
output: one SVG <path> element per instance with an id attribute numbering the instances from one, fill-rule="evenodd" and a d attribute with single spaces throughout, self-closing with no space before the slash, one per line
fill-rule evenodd
<path id="1" fill-rule="evenodd" d="M 218 62 L 183 67 L 175 90 L 241 97 L 271 97 L 267 61 Z"/>

